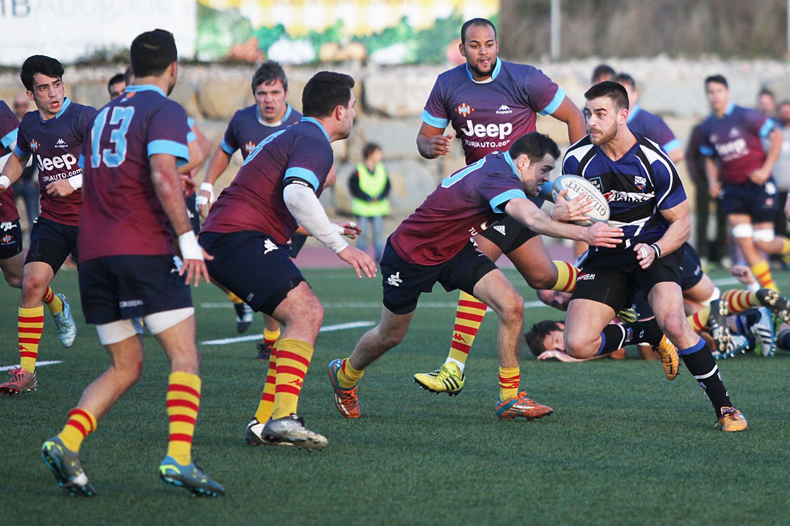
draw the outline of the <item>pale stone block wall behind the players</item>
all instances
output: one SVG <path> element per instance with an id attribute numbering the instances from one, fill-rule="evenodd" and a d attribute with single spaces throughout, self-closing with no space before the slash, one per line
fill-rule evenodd
<path id="1" fill-rule="evenodd" d="M 585 59 L 572 62 L 540 62 L 543 69 L 577 104 L 584 100 L 592 68 L 601 62 Z M 752 106 L 763 85 L 773 88 L 779 99 L 790 98 L 790 68 L 785 62 L 670 60 L 668 58 L 607 60 L 615 69 L 630 73 L 638 82 L 639 103 L 647 110 L 663 116 L 675 135 L 686 143 L 691 127 L 708 114 L 702 83 L 705 76 L 723 73 L 728 77 L 735 103 Z M 451 155 L 426 160 L 416 149 L 419 114 L 439 73 L 447 66 L 374 67 L 357 63 L 325 66 L 324 68 L 288 69 L 289 102 L 300 109 L 304 84 L 318 69 L 335 69 L 351 74 L 356 80 L 357 119 L 352 136 L 333 144 L 338 181 L 322 196 L 322 202 L 333 218 L 348 217 L 351 200 L 348 175 L 359 162 L 360 151 L 367 141 L 382 145 L 386 166 L 392 179 L 393 216 L 387 226 L 393 229 L 422 202 L 441 181 L 464 164 L 460 144 L 454 144 Z M 123 67 L 69 67 L 64 80 L 68 95 L 79 103 L 100 107 L 107 103 L 106 80 Z M 172 97 L 194 117 L 200 129 L 216 147 L 225 126 L 235 110 L 252 103 L 251 66 L 183 65 L 179 84 Z M 0 74 L 0 99 L 10 99 L 21 91 L 18 76 Z M 565 126 L 552 118 L 539 118 L 538 129 L 547 132 L 564 147 L 568 140 Z M 227 185 L 241 164 L 236 155 L 218 186 Z M 685 177 L 685 167 L 679 166 Z M 198 177 L 198 180 L 200 177 Z M 692 185 L 687 185 L 691 187 Z M 693 190 L 689 188 L 689 193 Z"/>

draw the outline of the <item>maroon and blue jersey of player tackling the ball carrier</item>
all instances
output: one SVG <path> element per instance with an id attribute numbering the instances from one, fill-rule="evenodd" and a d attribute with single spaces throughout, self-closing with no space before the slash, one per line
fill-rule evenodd
<path id="1" fill-rule="evenodd" d="M 417 210 L 401 222 L 389 244 L 416 265 L 438 265 L 455 256 L 469 237 L 504 217 L 505 205 L 526 199 L 510 153 L 493 153 L 442 181 Z"/>

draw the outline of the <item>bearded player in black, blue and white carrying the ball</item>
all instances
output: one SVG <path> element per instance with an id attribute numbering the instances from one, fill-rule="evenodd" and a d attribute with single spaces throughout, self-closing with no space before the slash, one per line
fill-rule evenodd
<path id="1" fill-rule="evenodd" d="M 638 286 L 660 327 L 641 339 L 657 345 L 667 378 L 677 375 L 680 354 L 704 387 L 717 423 L 724 431 L 743 431 L 747 421 L 732 406 L 716 360 L 683 314 L 679 248 L 689 237 L 690 220 L 675 165 L 656 143 L 630 132 L 628 94 L 621 84 L 596 84 L 585 99 L 589 135 L 566 151 L 562 173 L 585 177 L 608 196 L 609 224 L 623 226 L 625 237 L 616 248 L 595 248 L 585 258 L 568 304 L 566 353 L 589 358 L 619 349 L 621 333 L 607 334 L 607 324 L 631 304 Z"/>

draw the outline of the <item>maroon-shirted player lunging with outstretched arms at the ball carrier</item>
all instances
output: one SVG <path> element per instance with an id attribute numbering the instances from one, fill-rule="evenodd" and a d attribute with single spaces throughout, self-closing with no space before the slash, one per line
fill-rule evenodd
<path id="1" fill-rule="evenodd" d="M 359 340 L 351 356 L 329 363 L 340 414 L 359 417 L 356 390 L 365 368 L 401 343 L 420 294 L 430 292 L 437 282 L 448 292 L 461 289 L 480 298 L 499 315 L 499 397 L 495 406 L 499 419 L 532 420 L 551 413 L 551 408 L 518 390 L 524 300 L 502 270 L 469 242 L 469 235 L 507 214 L 536 233 L 615 247 L 623 235 L 620 229 L 603 222 L 589 228 L 557 222 L 527 199 L 537 195 L 558 158 L 559 147 L 553 140 L 530 132 L 514 140 L 508 151 L 486 155 L 447 177 L 401 222 L 389 237 L 380 263 L 384 287 L 381 322 Z M 581 218 L 567 210 L 561 203 L 553 213 L 566 220 Z"/>

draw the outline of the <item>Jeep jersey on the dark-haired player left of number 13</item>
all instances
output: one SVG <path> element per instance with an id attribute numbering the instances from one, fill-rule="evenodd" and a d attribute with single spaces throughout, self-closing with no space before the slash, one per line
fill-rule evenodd
<path id="1" fill-rule="evenodd" d="M 82 173 L 77 160 L 95 117 L 96 108 L 72 103 L 68 97 L 63 99 L 61 110 L 48 121 L 42 120 L 37 110 L 22 117 L 15 151 L 23 158 L 32 155 L 39 168 L 41 217 L 68 226 L 79 223 L 81 189 L 65 197 L 55 197 L 47 193 L 47 185 Z"/>

